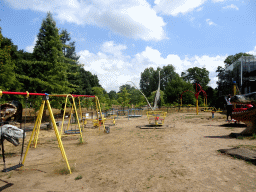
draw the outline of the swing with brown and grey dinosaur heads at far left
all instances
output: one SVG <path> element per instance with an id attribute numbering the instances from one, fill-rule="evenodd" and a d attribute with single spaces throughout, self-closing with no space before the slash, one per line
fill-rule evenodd
<path id="1" fill-rule="evenodd" d="M 29 93 L 27 92 L 26 106 L 27 106 L 28 96 L 29 96 Z M 0 91 L 0 99 L 1 99 L 1 97 L 2 97 L 2 91 Z M 25 130 L 22 129 L 22 126 L 21 126 L 21 124 L 22 124 L 22 105 L 18 101 L 12 101 L 11 103 L 2 104 L 2 105 L 0 105 L 0 113 L 1 113 L 0 134 L 1 134 L 2 157 L 3 157 L 3 162 L 4 162 L 4 169 L 2 170 L 2 172 L 9 172 L 9 171 L 18 169 L 23 166 L 22 157 L 23 157 L 26 133 L 25 133 Z M 9 124 L 9 120 L 11 120 L 13 117 L 14 117 L 14 121 L 17 121 L 20 123 L 20 129 L 14 125 Z M 26 116 L 25 116 L 24 128 L 25 128 L 25 124 L 26 124 Z M 20 161 L 17 165 L 6 168 L 4 140 L 9 141 L 14 146 L 18 146 L 20 144 L 19 143 L 20 138 L 22 138 Z"/>

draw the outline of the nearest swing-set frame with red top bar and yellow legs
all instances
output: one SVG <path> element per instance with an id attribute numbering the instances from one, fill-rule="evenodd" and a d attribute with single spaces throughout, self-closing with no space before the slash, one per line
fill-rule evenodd
<path id="1" fill-rule="evenodd" d="M 25 163 L 25 160 L 26 160 L 26 157 L 27 157 L 27 154 L 28 154 L 28 151 L 29 151 L 29 148 L 31 146 L 31 143 L 32 141 L 34 142 L 34 146 L 35 148 L 37 147 L 37 141 L 38 141 L 38 137 L 39 137 L 39 132 L 40 132 L 40 125 L 41 125 L 41 122 L 42 122 L 42 117 L 43 117 L 43 113 L 44 113 L 44 109 L 45 107 L 47 106 L 47 109 L 49 111 L 49 115 L 50 115 L 50 120 L 51 120 L 51 123 L 53 125 L 53 129 L 54 129 L 54 132 L 55 132 L 55 136 L 57 138 L 57 141 L 58 141 L 58 147 L 61 151 L 61 155 L 63 157 L 63 159 L 65 160 L 66 162 L 66 165 L 67 165 L 67 168 L 69 170 L 69 173 L 71 174 L 71 168 L 69 166 L 69 162 L 68 162 L 68 159 L 67 159 L 67 156 L 66 156 L 66 153 L 65 153 L 65 150 L 64 150 L 64 147 L 63 147 L 63 143 L 62 143 L 62 140 L 61 140 L 61 135 L 62 135 L 62 130 L 63 130 L 63 126 L 61 127 L 61 132 L 59 132 L 58 130 L 58 127 L 57 127 L 57 123 L 55 121 L 55 118 L 54 118 L 54 115 L 53 115 L 53 111 L 52 111 L 52 108 L 51 108 L 51 105 L 50 105 L 50 102 L 49 102 L 49 97 L 52 96 L 52 97 L 66 97 L 66 102 L 65 102 L 65 109 L 64 109 L 64 113 L 63 113 L 63 121 L 62 121 L 62 125 L 63 125 L 63 122 L 64 122 L 64 117 L 65 117 L 65 110 L 66 110 L 66 104 L 67 104 L 67 100 L 68 98 L 71 98 L 72 99 L 72 107 L 71 107 L 71 114 L 73 113 L 73 111 L 75 112 L 76 114 L 76 118 L 77 118 L 77 122 L 78 122 L 78 127 L 79 127 L 79 133 L 78 132 L 74 132 L 74 134 L 79 134 L 80 135 L 80 138 L 82 140 L 82 130 L 80 128 L 80 124 L 79 122 L 81 121 L 81 119 L 79 119 L 78 117 L 78 113 L 77 113 L 77 108 L 76 108 L 76 105 L 75 105 L 75 100 L 74 98 L 76 97 L 94 97 L 95 98 L 95 102 L 96 102 L 96 106 L 97 106 L 97 109 L 99 110 L 99 112 L 97 113 L 98 114 L 98 119 L 97 119 L 97 123 L 99 123 L 100 121 L 100 116 L 102 117 L 102 113 L 101 113 L 101 108 L 100 108 L 100 103 L 99 103 L 99 100 L 98 100 L 98 97 L 96 96 L 90 96 L 90 95 L 70 95 L 70 94 L 63 94 L 63 95 L 49 95 L 47 93 L 29 93 L 29 92 L 9 92 L 9 91 L 1 91 L 0 90 L 0 98 L 2 97 L 2 95 L 24 95 L 26 96 L 27 98 L 29 96 L 42 96 L 43 97 L 43 100 L 42 100 L 42 103 L 41 103 L 41 106 L 40 106 L 40 109 L 39 109 L 39 112 L 38 112 L 38 115 L 37 115 L 37 118 L 36 118 L 36 122 L 35 122 L 35 125 L 34 125 L 34 128 L 32 130 L 32 133 L 31 133 L 31 136 L 30 136 L 30 139 L 29 139 L 29 142 L 28 142 L 28 145 L 27 145 L 27 148 L 26 148 L 26 152 L 24 154 L 24 158 L 22 160 L 22 155 L 21 155 L 21 160 L 22 160 L 22 163 L 19 163 L 18 165 L 16 166 L 13 166 L 11 169 L 8 169 L 8 170 L 14 170 L 16 168 L 20 168 L 20 167 L 23 167 L 24 166 L 24 163 Z M 79 102 L 79 107 L 80 107 L 80 102 Z M 81 112 L 81 110 L 80 110 Z M 69 122 L 71 120 L 71 116 L 69 117 Z M 81 117 L 81 116 L 80 116 Z M 102 122 L 102 125 L 104 127 L 104 132 L 106 132 L 106 128 L 105 128 L 105 124 L 104 124 L 104 121 Z M 69 128 L 69 126 L 68 126 Z M 70 131 L 69 129 L 67 128 L 66 130 L 66 133 L 67 134 L 73 134 L 72 131 Z M 65 133 L 65 132 L 64 132 Z M 25 130 L 24 130 L 24 134 L 25 134 Z M 24 137 L 23 137 L 24 139 Z M 3 140 L 2 140 L 3 141 Z M 23 145 L 24 145 L 24 142 L 23 142 Z M 22 148 L 22 154 L 23 154 L 23 148 Z M 6 170 L 6 169 L 5 169 Z"/>

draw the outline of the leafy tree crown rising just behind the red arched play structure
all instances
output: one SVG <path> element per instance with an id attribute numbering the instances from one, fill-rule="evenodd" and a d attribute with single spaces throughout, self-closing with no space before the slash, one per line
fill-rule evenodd
<path id="1" fill-rule="evenodd" d="M 210 82 L 209 71 L 206 68 L 193 67 L 181 73 L 181 77 L 190 83 L 198 83 L 205 90 Z"/>

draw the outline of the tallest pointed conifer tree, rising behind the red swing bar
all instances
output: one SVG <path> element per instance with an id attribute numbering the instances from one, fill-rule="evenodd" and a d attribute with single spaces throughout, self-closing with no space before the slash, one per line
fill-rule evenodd
<path id="1" fill-rule="evenodd" d="M 64 63 L 62 47 L 59 30 L 52 14 L 48 12 L 37 35 L 33 56 L 36 61 L 46 62 L 44 66 L 42 66 L 42 63 L 34 66 L 44 69 L 40 71 L 43 73 L 40 80 L 52 85 L 46 88 L 49 93 L 69 93 L 72 91 L 67 81 L 68 66 Z"/>

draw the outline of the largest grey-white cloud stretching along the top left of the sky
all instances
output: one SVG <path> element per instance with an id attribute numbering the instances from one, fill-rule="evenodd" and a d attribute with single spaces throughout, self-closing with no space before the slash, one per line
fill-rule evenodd
<path id="1" fill-rule="evenodd" d="M 51 11 L 62 22 L 96 25 L 129 38 L 165 39 L 166 23 L 146 0 L 7 0 L 16 9 Z M 143 14 L 142 14 L 143 13 Z"/>

